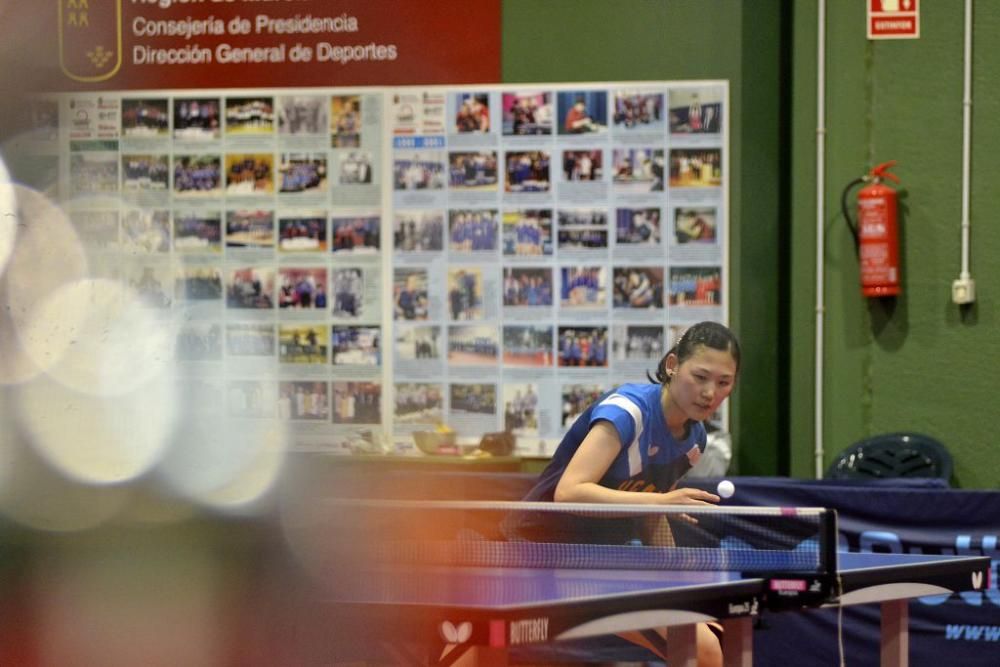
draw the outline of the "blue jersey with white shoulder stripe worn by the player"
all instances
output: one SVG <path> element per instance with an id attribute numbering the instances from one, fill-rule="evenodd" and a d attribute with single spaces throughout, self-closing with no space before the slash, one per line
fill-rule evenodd
<path id="1" fill-rule="evenodd" d="M 604 394 L 581 414 L 563 437 L 552 461 L 525 500 L 551 501 L 556 485 L 580 443 L 600 420 L 618 431 L 621 450 L 601 478 L 601 486 L 622 491 L 665 493 L 697 462 L 708 436 L 691 422 L 687 436 L 671 435 L 660 405 L 658 384 L 625 384 Z"/>

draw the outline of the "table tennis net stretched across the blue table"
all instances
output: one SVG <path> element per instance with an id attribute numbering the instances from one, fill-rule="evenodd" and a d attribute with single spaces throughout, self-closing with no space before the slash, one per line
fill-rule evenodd
<path id="1" fill-rule="evenodd" d="M 345 504 L 346 502 L 346 504 Z M 719 508 L 338 501 L 326 533 L 372 564 L 824 573 L 836 514 Z"/>

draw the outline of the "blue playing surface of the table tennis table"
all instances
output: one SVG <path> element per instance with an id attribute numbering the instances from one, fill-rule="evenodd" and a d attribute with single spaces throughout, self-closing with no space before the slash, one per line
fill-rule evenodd
<path id="1" fill-rule="evenodd" d="M 954 558 L 847 552 L 838 557 L 844 574 Z M 341 601 L 495 609 L 696 589 L 724 595 L 728 587 L 751 580 L 738 572 L 386 566 L 339 573 L 332 591 Z"/>

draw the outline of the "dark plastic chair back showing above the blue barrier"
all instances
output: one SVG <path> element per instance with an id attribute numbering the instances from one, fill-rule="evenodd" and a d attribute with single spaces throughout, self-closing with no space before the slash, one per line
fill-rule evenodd
<path id="1" fill-rule="evenodd" d="M 851 445 L 830 464 L 827 479 L 936 477 L 951 479 L 948 449 L 920 433 L 886 433 Z"/>

